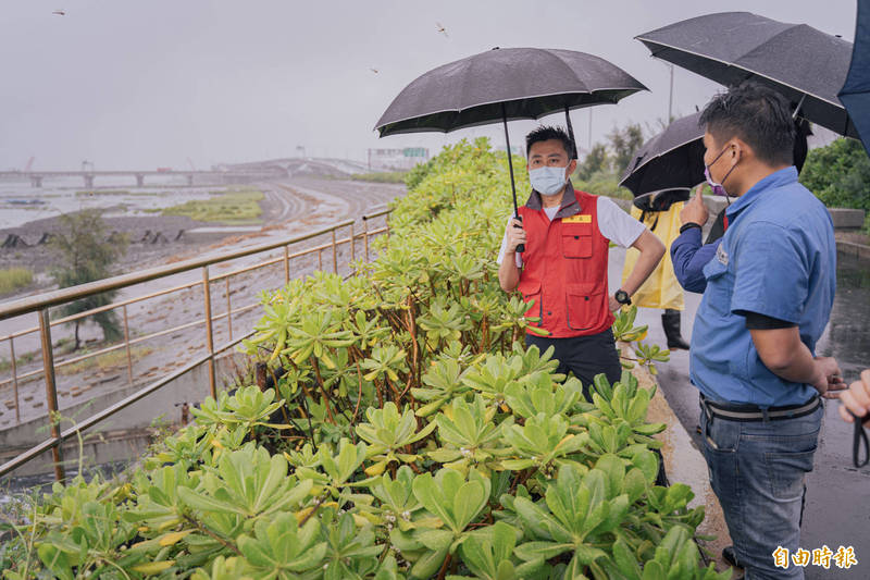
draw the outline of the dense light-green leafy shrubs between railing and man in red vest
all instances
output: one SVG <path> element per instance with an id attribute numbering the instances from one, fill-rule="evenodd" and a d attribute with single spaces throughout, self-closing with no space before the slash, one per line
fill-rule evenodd
<path id="1" fill-rule="evenodd" d="M 275 388 L 207 399 L 126 479 L 55 485 L 5 577 L 728 578 L 698 565 L 692 491 L 655 485 L 652 392 L 625 371 L 586 403 L 522 347 L 502 168 L 485 140 L 446 148 L 375 262 L 264 294 L 247 349 Z M 614 333 L 642 338 L 633 320 Z"/>

